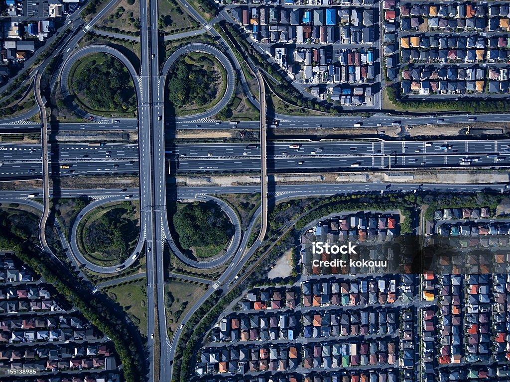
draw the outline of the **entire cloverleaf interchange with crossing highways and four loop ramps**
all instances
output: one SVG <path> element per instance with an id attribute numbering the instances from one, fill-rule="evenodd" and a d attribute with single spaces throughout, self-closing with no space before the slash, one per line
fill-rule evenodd
<path id="1" fill-rule="evenodd" d="M 180 254 L 172 240 L 167 219 L 167 200 L 195 199 L 214 200 L 222 205 L 221 201 L 212 197 L 213 194 L 257 193 L 261 191 L 260 185 L 230 186 L 230 187 L 175 187 L 167 188 L 167 163 L 170 170 L 179 173 L 221 173 L 221 172 L 260 172 L 261 160 L 267 160 L 269 173 L 296 173 L 296 172 L 325 172 L 325 171 L 360 171 L 367 169 L 421 169 L 421 168 L 471 168 L 471 167 L 506 167 L 510 166 L 509 140 L 452 140 L 452 141 L 405 141 L 385 142 L 382 140 L 351 140 L 351 141 L 268 141 L 267 159 L 261 158 L 260 148 L 248 147 L 250 143 L 224 143 L 224 144 L 182 144 L 166 147 L 165 128 L 171 129 L 258 129 L 261 122 L 240 122 L 231 125 L 228 122 L 216 121 L 213 116 L 230 99 L 234 80 L 241 81 L 242 88 L 249 99 L 259 107 L 255 97 L 249 92 L 240 63 L 225 41 L 219 34 L 210 28 L 210 24 L 195 11 L 186 0 L 179 0 L 189 12 L 206 28 L 213 37 L 219 40 L 225 49 L 221 61 L 226 63 L 225 70 L 228 77 L 227 94 L 212 110 L 198 116 L 177 118 L 164 115 L 163 90 L 168 69 L 179 54 L 185 51 L 200 50 L 218 55 L 218 51 L 209 45 L 191 45 L 179 54 L 172 55 L 163 65 L 160 72 L 160 59 L 158 51 L 158 2 L 140 2 L 141 22 L 141 67 L 136 70 L 132 67 L 122 53 L 111 47 L 93 45 L 79 50 L 73 48 L 93 24 L 103 17 L 115 5 L 112 0 L 92 21 L 85 24 L 80 17 L 71 19 L 73 34 L 61 48 L 64 60 L 63 75 L 69 72 L 72 63 L 91 52 L 105 52 L 112 54 L 126 65 L 133 78 L 138 99 L 137 119 L 110 119 L 100 116 L 91 116 L 75 110 L 84 118 L 83 122 L 50 124 L 48 131 L 80 131 L 80 130 L 136 130 L 138 129 L 137 145 L 104 143 L 103 146 L 90 146 L 88 144 L 52 144 L 48 158 L 42 157 L 41 145 L 0 144 L 0 180 L 40 179 L 44 160 L 49 162 L 51 176 L 75 176 L 86 174 L 138 174 L 140 188 L 137 189 L 74 189 L 59 190 L 59 197 L 88 196 L 95 199 L 81 215 L 104 203 L 122 201 L 126 197 L 140 200 L 141 222 L 140 238 L 133 256 L 144 255 L 147 264 L 147 321 L 149 336 L 148 346 L 148 380 L 155 379 L 155 363 L 160 365 L 159 380 L 169 382 L 172 377 L 172 364 L 175 356 L 176 344 L 179 341 L 183 328 L 180 326 L 173 334 L 170 342 L 166 331 L 165 293 L 163 252 L 168 245 L 174 254 Z M 208 28 L 209 27 L 209 28 Z M 220 52 L 220 54 L 223 54 Z M 56 78 L 56 77 L 55 77 Z M 65 81 L 64 81 L 65 83 Z M 53 88 L 56 81 L 52 81 Z M 62 85 L 62 84 L 61 84 Z M 65 85 L 63 93 L 65 93 Z M 35 115 L 34 111 L 7 120 L 0 121 L 3 132 L 34 132 L 40 131 L 40 125 L 28 122 L 27 119 Z M 92 120 L 90 119 L 92 117 Z M 275 114 L 270 120 L 279 121 L 278 128 L 352 128 L 358 125 L 364 127 L 377 127 L 381 134 L 387 127 L 417 126 L 440 123 L 471 123 L 506 122 L 508 116 L 453 114 L 444 116 L 395 116 L 384 113 L 375 113 L 368 118 L 362 116 L 344 117 L 292 117 Z M 269 119 L 269 117 L 268 117 Z M 85 122 L 86 121 L 86 122 Z M 270 124 L 270 123 L 269 123 Z M 271 127 L 269 127 L 271 128 Z M 360 130 L 362 131 L 362 130 Z M 171 152 L 170 152 L 171 151 Z M 169 162 L 168 162 L 169 161 Z M 173 166 L 173 168 L 172 168 Z M 417 190 L 449 191 L 449 192 L 480 192 L 482 190 L 496 190 L 504 192 L 502 184 L 384 184 L 384 183 L 349 183 L 349 184 L 297 184 L 272 185 L 269 196 L 275 201 L 293 197 L 326 196 L 338 193 L 358 192 L 416 192 Z M 42 190 L 0 192 L 0 202 L 19 201 L 34 204 L 30 200 L 40 197 Z M 261 244 L 260 241 L 247 248 L 247 241 L 255 222 L 261 214 L 261 209 L 252 216 L 247 229 L 241 232 L 235 213 L 227 205 L 222 208 L 231 216 L 236 226 L 236 234 L 227 254 L 216 259 L 214 264 L 194 263 L 192 260 L 182 260 L 194 267 L 208 267 L 230 261 L 231 265 L 221 277 L 208 288 L 194 306 L 186 313 L 181 322 L 183 325 L 215 290 L 230 286 L 236 279 L 239 271 Z M 81 217 L 77 217 L 81 219 Z M 78 221 L 74 222 L 78 223 Z M 73 225 L 70 242 L 61 231 L 59 235 L 65 248 L 69 248 L 71 261 L 86 264 L 80 257 L 79 249 L 75 244 L 76 224 Z M 136 257 L 135 257 L 136 258 Z M 123 264 L 130 266 L 134 259 L 130 257 Z M 89 267 L 92 266 L 88 264 Z M 101 272 L 114 272 L 116 266 L 108 269 L 98 269 Z M 156 309 L 157 308 L 157 309 Z M 159 329 L 159 330 L 158 330 Z M 155 352 L 156 342 L 159 342 L 159 354 Z M 159 359 L 158 359 L 159 357 Z"/>

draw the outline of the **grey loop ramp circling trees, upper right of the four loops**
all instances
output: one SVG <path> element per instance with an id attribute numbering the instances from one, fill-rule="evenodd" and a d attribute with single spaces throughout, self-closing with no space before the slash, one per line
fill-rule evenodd
<path id="1" fill-rule="evenodd" d="M 174 51 L 172 54 L 170 54 L 170 57 L 166 60 L 165 64 L 163 65 L 163 70 L 161 72 L 161 76 L 158 80 L 158 87 L 160 89 L 164 89 L 166 85 L 166 76 L 173 65 L 173 63 L 181 57 L 183 54 L 189 53 L 189 52 L 201 52 L 201 53 L 208 53 L 211 54 L 216 60 L 219 61 L 219 63 L 223 66 L 226 72 L 226 81 L 227 86 L 225 90 L 225 94 L 221 98 L 221 100 L 214 105 L 212 109 L 210 109 L 207 112 L 203 112 L 200 114 L 195 114 L 193 116 L 186 116 L 186 117 L 180 117 L 177 118 L 179 120 L 196 120 L 196 119 L 202 119 L 202 118 L 210 118 L 220 112 L 223 107 L 225 107 L 230 99 L 232 98 L 232 95 L 234 94 L 234 87 L 236 84 L 236 78 L 234 73 L 234 68 L 232 67 L 232 63 L 230 60 L 223 54 L 220 50 L 215 48 L 214 46 L 208 45 L 208 44 L 188 44 L 185 45 L 176 51 Z M 162 88 L 163 87 L 163 88 Z M 164 91 L 159 92 L 160 96 L 160 102 L 163 102 L 164 98 Z"/>

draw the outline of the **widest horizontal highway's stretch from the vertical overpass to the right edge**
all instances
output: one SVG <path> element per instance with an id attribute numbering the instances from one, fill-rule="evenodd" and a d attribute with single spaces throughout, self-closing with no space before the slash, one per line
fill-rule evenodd
<path id="1" fill-rule="evenodd" d="M 180 144 L 177 173 L 259 171 L 258 144 Z M 335 171 L 367 168 L 420 169 L 510 166 L 509 140 L 479 141 L 273 141 L 269 172 Z"/>

